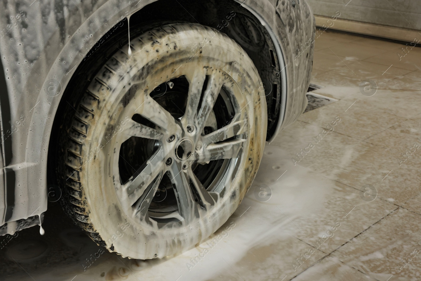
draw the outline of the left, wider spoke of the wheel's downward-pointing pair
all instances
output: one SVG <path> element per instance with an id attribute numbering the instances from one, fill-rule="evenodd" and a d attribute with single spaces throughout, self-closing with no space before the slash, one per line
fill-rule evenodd
<path id="1" fill-rule="evenodd" d="M 174 193 L 176 194 L 177 204 L 179 206 L 180 216 L 187 222 L 194 221 L 199 218 L 197 204 L 193 198 L 192 189 L 186 173 L 181 169 L 181 163 L 173 163 L 170 169 L 171 182 L 175 185 Z"/>

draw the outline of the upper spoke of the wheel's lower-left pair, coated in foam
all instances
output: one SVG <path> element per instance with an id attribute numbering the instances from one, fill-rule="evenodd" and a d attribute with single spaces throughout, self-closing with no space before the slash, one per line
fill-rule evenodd
<path id="1" fill-rule="evenodd" d="M 144 194 L 150 183 L 157 177 L 164 168 L 163 148 L 149 158 L 133 175 L 131 181 L 127 182 L 126 191 L 128 194 L 128 204 L 133 206 L 134 203 Z"/>

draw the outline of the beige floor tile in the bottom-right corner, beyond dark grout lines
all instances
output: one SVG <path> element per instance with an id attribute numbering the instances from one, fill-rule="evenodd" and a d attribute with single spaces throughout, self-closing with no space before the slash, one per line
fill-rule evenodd
<path id="1" fill-rule="evenodd" d="M 392 275 L 389 280 L 418 280 L 421 252 L 416 254 L 414 250 L 421 250 L 418 235 L 421 215 L 402 208 L 390 214 L 384 210 L 384 213 L 388 214 L 386 218 L 353 238 L 332 256 L 380 281 L 386 281 Z"/>

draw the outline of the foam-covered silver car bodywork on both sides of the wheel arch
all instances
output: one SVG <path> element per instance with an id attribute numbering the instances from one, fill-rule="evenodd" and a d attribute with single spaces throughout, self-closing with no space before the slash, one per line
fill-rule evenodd
<path id="1" fill-rule="evenodd" d="M 7 85 L 0 99 L 4 136 L 0 235 L 14 232 L 16 223 L 9 227 L 5 223 L 41 215 L 47 209 L 51 127 L 77 65 L 115 24 L 155 0 L 31 2 L 7 0 L 0 4 L 0 53 Z M 278 132 L 306 106 L 313 44 L 302 55 L 297 50 L 314 39 L 314 18 L 303 0 L 247 0 L 242 5 L 272 32 L 280 65 L 286 66 L 280 73 L 285 82 L 285 104 L 281 104 L 285 110 L 280 114 Z"/>

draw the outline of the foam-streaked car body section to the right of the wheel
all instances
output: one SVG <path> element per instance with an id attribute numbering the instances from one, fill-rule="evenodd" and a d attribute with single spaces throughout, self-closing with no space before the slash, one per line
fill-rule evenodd
<path id="1" fill-rule="evenodd" d="M 306 1 L 277 0 L 275 6 L 272 4 L 274 1 L 269 0 L 235 1 L 253 13 L 266 28 L 280 64 L 281 109 L 277 128 L 268 140 L 270 143 L 307 107 L 306 92 L 312 71 L 315 20 Z M 302 48 L 308 41 L 312 42 L 310 46 Z"/>

